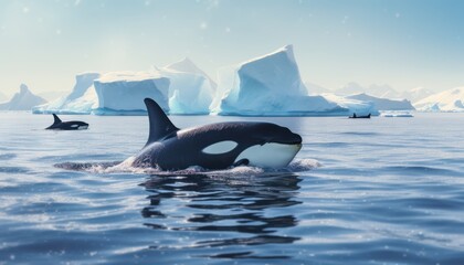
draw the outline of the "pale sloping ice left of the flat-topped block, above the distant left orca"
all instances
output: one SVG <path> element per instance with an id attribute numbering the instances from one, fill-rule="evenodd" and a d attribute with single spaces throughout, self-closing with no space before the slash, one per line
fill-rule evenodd
<path id="1" fill-rule="evenodd" d="M 98 73 L 82 73 L 76 75 L 76 83 L 67 96 L 32 108 L 34 114 L 91 114 L 96 107 L 97 95 L 93 86 Z"/>

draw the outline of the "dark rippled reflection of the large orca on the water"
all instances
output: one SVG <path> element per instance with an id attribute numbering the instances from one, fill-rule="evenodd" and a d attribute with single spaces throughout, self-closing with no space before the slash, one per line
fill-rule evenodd
<path id="1" fill-rule="evenodd" d="M 211 248 L 289 244 L 299 237 L 285 235 L 284 229 L 297 225 L 291 206 L 299 189 L 293 173 L 257 176 L 151 176 L 143 186 L 150 194 L 150 205 L 141 211 L 148 227 L 165 231 L 168 237 L 189 233 L 188 247 Z M 209 232 L 204 237 L 192 234 Z M 151 248 L 162 248 L 159 245 Z M 167 243 L 168 244 L 168 243 Z M 214 253 L 209 257 L 286 258 L 285 255 L 260 255 L 257 248 Z M 232 252 L 231 252 L 232 251 Z"/>

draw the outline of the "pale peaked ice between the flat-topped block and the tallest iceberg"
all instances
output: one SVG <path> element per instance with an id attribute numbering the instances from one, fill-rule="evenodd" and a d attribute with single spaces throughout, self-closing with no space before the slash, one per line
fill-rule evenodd
<path id="1" fill-rule="evenodd" d="M 169 113 L 176 115 L 209 114 L 217 84 L 189 59 L 155 68 L 170 81 Z"/>

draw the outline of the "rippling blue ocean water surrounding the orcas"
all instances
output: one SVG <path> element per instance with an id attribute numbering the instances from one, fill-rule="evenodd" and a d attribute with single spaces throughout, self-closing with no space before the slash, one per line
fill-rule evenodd
<path id="1" fill-rule="evenodd" d="M 114 167 L 147 117 L 0 113 L 0 264 L 464 264 L 464 115 L 173 116 L 300 134 L 285 169 Z M 55 165 L 91 165 L 68 170 Z"/>

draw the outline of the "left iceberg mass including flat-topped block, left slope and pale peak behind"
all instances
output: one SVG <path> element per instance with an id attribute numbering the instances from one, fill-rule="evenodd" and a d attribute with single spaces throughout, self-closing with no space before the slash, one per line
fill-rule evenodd
<path id="1" fill-rule="evenodd" d="M 209 114 L 215 83 L 190 60 L 145 72 L 84 73 L 70 95 L 33 108 L 35 114 L 146 114 L 144 98 L 165 112 Z"/>

